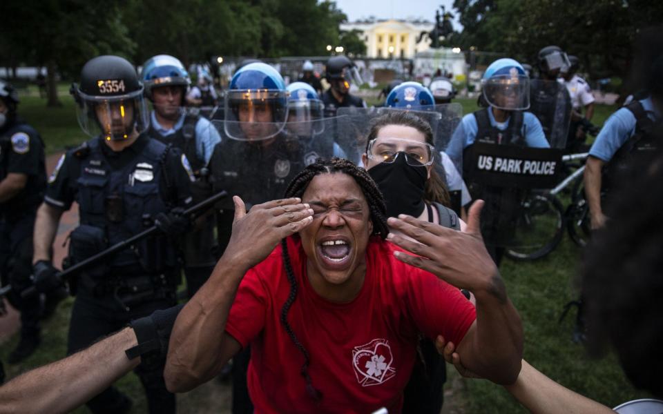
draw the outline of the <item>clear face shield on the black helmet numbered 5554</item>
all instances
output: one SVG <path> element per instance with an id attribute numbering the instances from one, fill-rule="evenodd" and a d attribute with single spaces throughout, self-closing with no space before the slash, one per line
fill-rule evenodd
<path id="1" fill-rule="evenodd" d="M 108 141 L 122 141 L 131 137 L 134 130 L 144 132 L 149 126 L 142 90 L 113 97 L 78 92 L 77 103 L 78 124 L 90 137 L 102 135 Z"/>

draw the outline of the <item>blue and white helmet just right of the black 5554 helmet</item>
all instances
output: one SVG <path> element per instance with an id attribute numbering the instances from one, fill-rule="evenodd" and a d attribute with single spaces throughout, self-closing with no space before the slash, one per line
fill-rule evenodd
<path id="1" fill-rule="evenodd" d="M 157 55 L 143 63 L 140 79 L 145 86 L 145 96 L 152 99 L 153 88 L 160 86 L 182 87 L 182 103 L 186 90 L 191 86 L 191 77 L 179 59 L 170 55 Z"/>

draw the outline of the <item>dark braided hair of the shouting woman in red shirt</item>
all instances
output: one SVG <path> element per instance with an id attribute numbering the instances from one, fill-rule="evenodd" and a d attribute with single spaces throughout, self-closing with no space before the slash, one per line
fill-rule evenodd
<path id="1" fill-rule="evenodd" d="M 378 186 L 375 184 L 375 181 L 371 178 L 370 175 L 363 168 L 359 168 L 352 161 L 347 159 L 332 157 L 332 159 L 325 160 L 318 158 L 316 162 L 307 166 L 302 170 L 298 175 L 296 175 L 288 188 L 285 190 L 284 198 L 290 197 L 302 197 L 307 187 L 311 183 L 311 180 L 320 174 L 334 174 L 340 172 L 347 174 L 350 177 L 354 178 L 354 181 L 361 188 L 364 197 L 366 197 L 367 204 L 369 206 L 370 217 L 373 223 L 373 235 L 379 235 L 381 239 L 385 239 L 389 233 L 389 228 L 387 227 L 387 207 L 385 205 L 385 199 L 380 193 Z M 288 299 L 286 299 L 285 304 L 281 308 L 281 324 L 285 328 L 285 331 L 288 333 L 288 336 L 294 342 L 298 350 L 304 355 L 304 364 L 301 368 L 301 375 L 306 380 L 306 391 L 311 397 L 316 401 L 320 401 L 323 397 L 323 394 L 313 386 L 311 377 L 308 372 L 308 367 L 310 364 L 309 353 L 300 342 L 297 335 L 295 335 L 292 327 L 290 326 L 287 316 L 288 311 L 295 301 L 297 296 L 297 280 L 295 279 L 295 274 L 292 270 L 292 264 L 290 262 L 290 255 L 288 253 L 288 245 L 286 239 L 281 240 L 282 248 L 282 257 L 283 264 L 285 265 L 285 271 L 287 273 L 288 282 L 290 284 L 290 294 Z"/>

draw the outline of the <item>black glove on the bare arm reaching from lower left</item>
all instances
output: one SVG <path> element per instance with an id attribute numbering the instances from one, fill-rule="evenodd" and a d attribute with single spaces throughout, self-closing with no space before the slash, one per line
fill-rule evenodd
<path id="1" fill-rule="evenodd" d="M 126 357 L 134 359 L 149 355 L 150 357 L 165 358 L 168 355 L 168 342 L 171 339 L 175 319 L 182 308 L 184 308 L 184 304 L 156 311 L 152 315 L 132 321 L 129 326 L 133 328 L 138 344 L 124 351 Z"/>

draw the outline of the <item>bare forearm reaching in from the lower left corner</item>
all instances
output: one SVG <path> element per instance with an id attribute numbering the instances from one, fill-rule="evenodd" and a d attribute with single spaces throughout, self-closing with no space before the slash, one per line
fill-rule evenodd
<path id="1" fill-rule="evenodd" d="M 0 387 L 0 413 L 68 413 L 140 363 L 124 350 L 137 344 L 132 328 L 41 366 Z M 94 369 L 91 369 L 94 368 Z"/>

